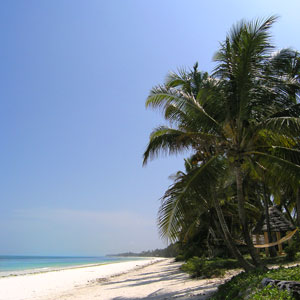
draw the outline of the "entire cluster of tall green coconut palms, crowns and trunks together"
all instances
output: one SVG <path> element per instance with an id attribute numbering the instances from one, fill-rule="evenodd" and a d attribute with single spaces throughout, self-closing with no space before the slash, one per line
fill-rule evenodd
<path id="1" fill-rule="evenodd" d="M 239 22 L 214 55 L 211 74 L 198 63 L 172 72 L 146 101 L 167 125 L 151 133 L 144 164 L 161 153 L 190 152 L 186 172 L 162 198 L 161 235 L 184 245 L 210 234 L 246 271 L 266 270 L 251 229 L 270 205 L 300 218 L 300 56 L 275 51 L 276 19 Z"/>

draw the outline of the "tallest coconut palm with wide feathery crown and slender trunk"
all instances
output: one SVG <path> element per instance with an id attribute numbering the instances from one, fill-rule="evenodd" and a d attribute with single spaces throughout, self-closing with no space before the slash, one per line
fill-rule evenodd
<path id="1" fill-rule="evenodd" d="M 249 166 L 259 163 L 293 182 L 299 182 L 300 174 L 299 83 L 278 67 L 290 56 L 288 51 L 274 54 L 269 29 L 275 20 L 233 26 L 214 56 L 217 65 L 211 75 L 199 72 L 197 64 L 191 71 L 171 73 L 146 101 L 147 107 L 163 110 L 170 126 L 151 133 L 144 164 L 160 152 L 189 149 L 199 163 L 196 178 L 217 160 L 226 159 L 226 171 L 216 176 L 235 177 L 239 222 L 255 266 L 261 262 L 250 236 L 244 194 Z M 210 192 L 220 213 L 214 191 Z M 218 217 L 228 235 L 222 216 Z"/>

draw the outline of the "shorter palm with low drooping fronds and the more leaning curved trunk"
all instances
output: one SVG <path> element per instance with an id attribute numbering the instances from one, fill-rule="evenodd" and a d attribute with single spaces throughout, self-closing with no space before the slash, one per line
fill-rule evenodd
<path id="1" fill-rule="evenodd" d="M 161 236 L 172 242 L 179 241 L 184 244 L 194 239 L 196 235 L 199 238 L 201 234 L 203 245 L 207 236 L 213 233 L 225 242 L 241 266 L 245 269 L 250 268 L 250 264 L 244 260 L 236 247 L 240 239 L 240 229 L 236 227 L 237 209 L 232 201 L 235 184 L 230 176 L 220 175 L 220 172 L 228 170 L 225 167 L 226 161 L 215 160 L 210 166 L 205 166 L 205 172 L 201 171 L 201 164 L 195 164 L 195 160 L 185 162 L 188 167 L 186 173 L 178 172 L 172 176 L 174 184 L 162 197 L 158 217 Z M 251 203 L 247 208 L 252 217 L 259 215 L 259 209 Z M 222 222 L 221 226 L 218 216 Z M 232 230 L 234 232 L 231 232 Z"/>

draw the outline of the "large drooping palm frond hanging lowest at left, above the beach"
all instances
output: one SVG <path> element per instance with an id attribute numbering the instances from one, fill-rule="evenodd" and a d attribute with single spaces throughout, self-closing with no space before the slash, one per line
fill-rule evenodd
<path id="1" fill-rule="evenodd" d="M 189 222 L 191 225 L 203 210 L 209 209 L 212 205 L 209 203 L 209 190 L 217 186 L 220 173 L 225 171 L 223 162 L 214 156 L 199 167 L 193 168 L 188 174 L 178 177 L 162 198 L 159 209 L 158 226 L 163 238 L 175 241 L 184 223 Z M 193 214 L 193 217 L 187 219 L 187 214 Z"/>

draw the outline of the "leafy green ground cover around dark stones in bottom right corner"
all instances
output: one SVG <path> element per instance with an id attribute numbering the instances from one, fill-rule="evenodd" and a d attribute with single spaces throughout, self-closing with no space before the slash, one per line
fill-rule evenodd
<path id="1" fill-rule="evenodd" d="M 264 271 L 255 271 L 248 273 L 241 273 L 234 276 L 230 281 L 221 285 L 218 292 L 211 298 L 211 300 L 241 300 L 246 299 L 249 293 L 255 291 L 251 298 L 247 299 L 293 299 L 289 294 L 284 291 L 279 291 L 274 288 L 271 290 L 268 288 L 263 288 L 261 286 L 261 281 L 263 278 L 271 278 L 278 280 L 291 280 L 300 281 L 300 267 L 292 268 L 278 268 Z M 290 297 L 290 298 L 289 298 Z"/>

